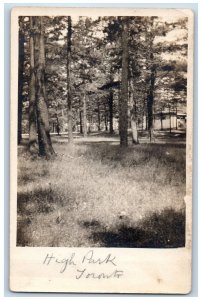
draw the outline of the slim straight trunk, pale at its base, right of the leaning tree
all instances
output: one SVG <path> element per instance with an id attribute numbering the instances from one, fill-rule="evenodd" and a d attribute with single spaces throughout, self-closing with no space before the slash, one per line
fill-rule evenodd
<path id="1" fill-rule="evenodd" d="M 70 63 L 71 63 L 71 38 L 72 38 L 72 20 L 68 17 L 67 28 L 67 109 L 68 109 L 68 141 L 73 143 L 72 132 L 72 99 L 71 99 L 71 84 L 70 84 Z"/>

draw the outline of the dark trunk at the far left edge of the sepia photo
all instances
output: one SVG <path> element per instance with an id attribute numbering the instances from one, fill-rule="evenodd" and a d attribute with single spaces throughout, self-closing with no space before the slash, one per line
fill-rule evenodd
<path id="1" fill-rule="evenodd" d="M 19 59 L 18 59 L 18 144 L 20 144 L 22 139 L 22 101 L 23 101 L 23 73 L 24 73 L 24 59 L 25 59 L 25 49 L 24 49 L 24 33 L 19 29 Z"/>

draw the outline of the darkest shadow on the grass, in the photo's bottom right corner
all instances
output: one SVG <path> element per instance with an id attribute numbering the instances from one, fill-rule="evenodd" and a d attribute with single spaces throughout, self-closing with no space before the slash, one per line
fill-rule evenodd
<path id="1" fill-rule="evenodd" d="M 84 222 L 83 226 L 87 228 L 90 226 L 92 229 L 94 223 Z M 165 209 L 161 213 L 150 214 L 136 227 L 127 226 L 125 222 L 113 230 L 106 230 L 97 223 L 94 227 L 94 232 L 89 239 L 100 247 L 177 248 L 185 246 L 184 210 L 176 212 L 173 209 Z"/>

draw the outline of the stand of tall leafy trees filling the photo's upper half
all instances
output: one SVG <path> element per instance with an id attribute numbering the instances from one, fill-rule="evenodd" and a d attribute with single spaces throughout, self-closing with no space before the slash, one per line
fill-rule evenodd
<path id="1" fill-rule="evenodd" d="M 169 19 L 168 19 L 169 20 Z M 55 155 L 50 119 L 87 136 L 96 124 L 128 145 L 138 125 L 151 132 L 155 112 L 186 103 L 187 19 L 70 16 L 19 18 L 18 143 L 22 115 L 33 154 Z"/>

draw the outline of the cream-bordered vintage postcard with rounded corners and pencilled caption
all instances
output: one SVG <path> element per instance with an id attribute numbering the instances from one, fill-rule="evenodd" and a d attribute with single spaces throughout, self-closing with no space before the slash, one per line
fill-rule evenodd
<path id="1" fill-rule="evenodd" d="M 193 19 L 12 10 L 12 291 L 190 292 Z"/>

